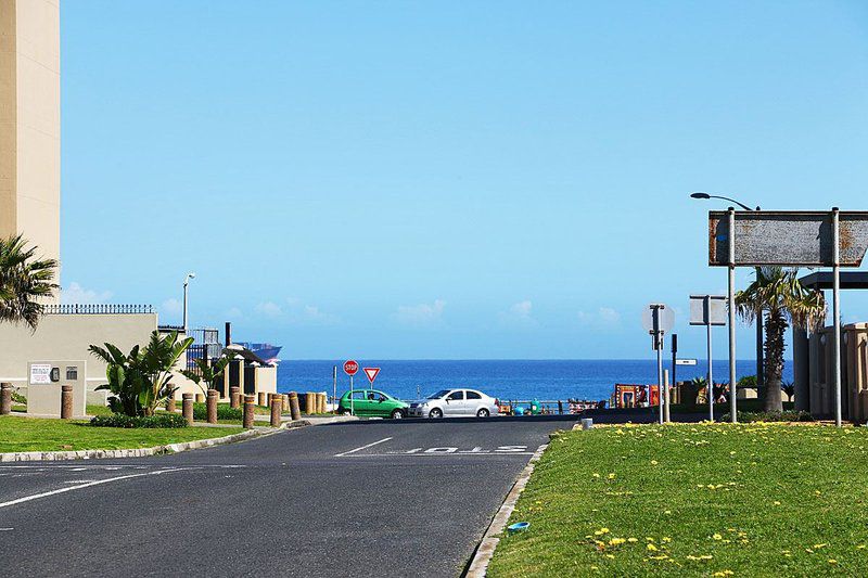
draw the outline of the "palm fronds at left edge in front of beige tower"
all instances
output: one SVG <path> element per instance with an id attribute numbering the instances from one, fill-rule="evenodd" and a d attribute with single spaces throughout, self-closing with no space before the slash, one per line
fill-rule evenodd
<path id="1" fill-rule="evenodd" d="M 36 246 L 26 245 L 21 234 L 0 239 L 0 322 L 23 322 L 36 331 L 43 299 L 58 290 L 58 261 L 35 259 Z"/>

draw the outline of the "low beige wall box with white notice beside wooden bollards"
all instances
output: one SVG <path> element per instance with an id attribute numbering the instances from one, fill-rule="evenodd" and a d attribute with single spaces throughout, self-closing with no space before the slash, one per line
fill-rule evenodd
<path id="1" fill-rule="evenodd" d="M 73 418 L 86 418 L 86 361 L 31 361 L 27 364 L 27 413 L 61 416 L 61 386 L 73 386 Z"/>

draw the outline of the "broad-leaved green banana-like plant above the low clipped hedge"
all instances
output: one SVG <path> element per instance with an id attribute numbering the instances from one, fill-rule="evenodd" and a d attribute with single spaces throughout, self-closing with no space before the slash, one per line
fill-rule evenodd
<path id="1" fill-rule="evenodd" d="M 127 355 L 108 343 L 105 348 L 91 345 L 91 355 L 105 361 L 108 380 L 97 389 L 112 394 L 108 407 L 115 413 L 153 415 L 156 407 L 175 393 L 171 371 L 192 343 L 192 337 L 179 341 L 177 331 L 167 335 L 155 331 L 144 348 L 137 345 Z"/>

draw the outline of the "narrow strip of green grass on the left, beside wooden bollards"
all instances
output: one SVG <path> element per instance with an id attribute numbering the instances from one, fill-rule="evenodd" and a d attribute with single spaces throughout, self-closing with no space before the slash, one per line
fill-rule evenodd
<path id="1" fill-rule="evenodd" d="M 150 448 L 179 441 L 224 437 L 241 427 L 137 428 L 90 427 L 87 422 L 0 416 L 0 452 Z"/>

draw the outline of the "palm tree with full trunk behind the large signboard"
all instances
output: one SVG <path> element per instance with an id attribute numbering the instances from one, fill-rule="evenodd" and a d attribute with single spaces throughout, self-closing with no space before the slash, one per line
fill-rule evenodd
<path id="1" fill-rule="evenodd" d="M 797 269 L 763 267 L 756 280 L 736 294 L 736 307 L 742 319 L 765 319 L 765 411 L 782 411 L 781 374 L 783 373 L 783 335 L 790 323 L 817 329 L 826 320 L 826 299 L 821 291 L 802 286 Z"/>

